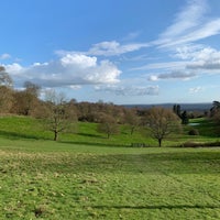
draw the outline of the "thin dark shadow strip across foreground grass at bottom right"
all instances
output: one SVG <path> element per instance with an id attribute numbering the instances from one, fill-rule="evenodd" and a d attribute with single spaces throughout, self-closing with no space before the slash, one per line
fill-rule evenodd
<path id="1" fill-rule="evenodd" d="M 219 209 L 217 205 L 91 206 L 94 209 Z"/>

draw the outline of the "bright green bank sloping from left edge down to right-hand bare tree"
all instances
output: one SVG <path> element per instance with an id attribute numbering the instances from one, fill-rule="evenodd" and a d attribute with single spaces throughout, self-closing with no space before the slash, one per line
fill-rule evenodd
<path id="1" fill-rule="evenodd" d="M 40 120 L 26 117 L 0 118 L 0 136 L 11 140 L 53 140 L 53 133 L 46 131 Z M 108 146 L 130 146 L 132 142 L 146 142 L 148 145 L 157 145 L 154 140 L 143 135 L 140 131 L 130 135 L 130 130 L 125 125 L 121 125 L 120 134 L 111 135 L 110 139 L 107 139 L 107 134 L 97 132 L 96 123 L 86 122 L 78 122 L 76 131 L 68 134 L 59 134 L 59 142 Z"/>

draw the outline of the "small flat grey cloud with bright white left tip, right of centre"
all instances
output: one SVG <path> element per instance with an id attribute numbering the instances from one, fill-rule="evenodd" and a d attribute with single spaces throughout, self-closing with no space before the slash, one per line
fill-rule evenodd
<path id="1" fill-rule="evenodd" d="M 187 80 L 193 77 L 197 76 L 196 73 L 187 73 L 184 70 L 175 70 L 166 74 L 158 74 L 158 75 L 152 75 L 148 77 L 150 81 L 156 81 L 156 80 L 162 80 L 162 79 L 182 79 L 182 80 Z"/>

